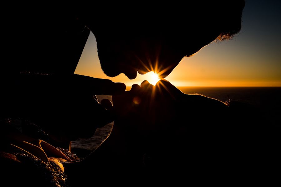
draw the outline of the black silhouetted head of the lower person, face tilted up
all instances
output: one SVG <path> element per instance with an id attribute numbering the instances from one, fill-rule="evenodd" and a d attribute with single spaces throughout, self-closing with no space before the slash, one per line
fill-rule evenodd
<path id="1" fill-rule="evenodd" d="M 221 149 L 221 140 L 229 136 L 225 133 L 224 103 L 186 95 L 166 80 L 155 86 L 147 81 L 133 85 L 112 100 L 118 117 L 111 135 L 122 137 L 127 152 L 134 152 L 139 159 L 149 155 L 154 165 L 182 164 L 189 151 L 191 160 L 205 159 L 202 156 Z"/>

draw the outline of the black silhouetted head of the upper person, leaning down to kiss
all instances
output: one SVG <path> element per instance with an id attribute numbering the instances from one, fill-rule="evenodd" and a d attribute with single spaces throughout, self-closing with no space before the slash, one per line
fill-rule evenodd
<path id="1" fill-rule="evenodd" d="M 241 28 L 244 0 L 234 2 L 138 5 L 115 8 L 102 19 L 81 18 L 93 31 L 102 70 L 114 77 L 155 71 L 165 78 L 185 56 L 215 39 L 231 38 Z"/>

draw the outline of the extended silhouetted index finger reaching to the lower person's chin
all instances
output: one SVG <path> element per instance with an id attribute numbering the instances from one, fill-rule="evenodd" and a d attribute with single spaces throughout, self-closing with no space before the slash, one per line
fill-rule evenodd
<path id="1" fill-rule="evenodd" d="M 97 79 L 93 77 L 74 74 L 73 82 L 76 88 L 81 88 L 92 95 L 114 95 L 125 91 L 124 83 L 114 83 L 108 79 Z"/>

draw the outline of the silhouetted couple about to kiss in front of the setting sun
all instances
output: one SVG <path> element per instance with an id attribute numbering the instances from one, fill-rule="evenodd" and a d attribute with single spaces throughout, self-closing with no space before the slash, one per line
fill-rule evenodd
<path id="1" fill-rule="evenodd" d="M 106 75 L 134 79 L 157 71 L 165 78 L 183 57 L 238 33 L 243 7 L 244 1 L 213 1 L 107 7 L 111 16 L 85 9 L 17 12 L 1 75 L 2 181 L 85 186 L 102 177 L 172 176 L 180 168 L 195 178 L 272 169 L 277 144 L 248 106 L 186 95 L 164 79 L 126 92 L 123 83 L 73 74 L 92 31 Z M 98 103 L 97 94 L 113 95 L 113 105 Z M 70 151 L 71 141 L 113 120 L 96 151 L 81 160 Z"/>

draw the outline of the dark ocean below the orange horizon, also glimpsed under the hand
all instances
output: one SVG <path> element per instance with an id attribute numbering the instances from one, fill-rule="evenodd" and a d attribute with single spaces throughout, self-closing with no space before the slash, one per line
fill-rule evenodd
<path id="1" fill-rule="evenodd" d="M 267 119 L 267 125 L 273 125 L 277 127 L 276 129 L 281 127 L 281 87 L 178 87 L 178 89 L 186 94 L 198 93 L 222 102 L 229 100 L 248 103 L 261 111 L 263 117 Z M 97 95 L 97 98 L 99 101 L 104 98 L 112 101 L 108 95 Z M 111 132 L 112 126 L 113 122 L 98 129 L 92 138 L 73 141 L 71 145 L 73 151 L 95 150 Z"/>

